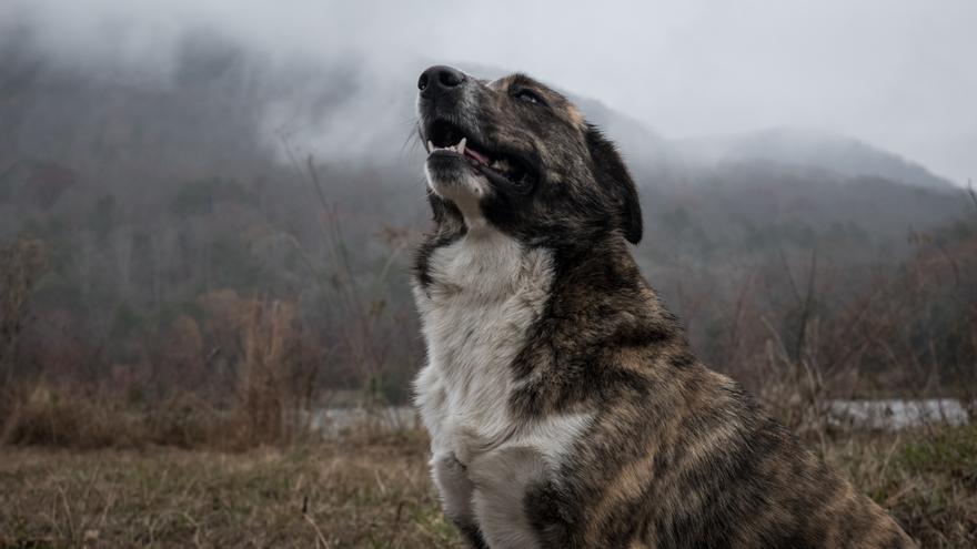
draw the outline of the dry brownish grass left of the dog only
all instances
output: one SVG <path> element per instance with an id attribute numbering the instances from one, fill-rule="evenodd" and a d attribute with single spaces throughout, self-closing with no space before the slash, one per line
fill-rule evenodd
<path id="1" fill-rule="evenodd" d="M 0 450 L 0 547 L 462 547 L 410 433 L 244 453 Z"/>

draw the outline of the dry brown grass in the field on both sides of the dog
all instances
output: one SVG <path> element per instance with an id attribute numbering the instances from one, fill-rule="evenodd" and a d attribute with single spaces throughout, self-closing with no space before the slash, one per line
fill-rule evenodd
<path id="1" fill-rule="evenodd" d="M 834 434 L 825 459 L 924 547 L 977 547 L 977 426 Z M 463 547 L 407 431 L 241 453 L 0 448 L 0 547 Z"/>

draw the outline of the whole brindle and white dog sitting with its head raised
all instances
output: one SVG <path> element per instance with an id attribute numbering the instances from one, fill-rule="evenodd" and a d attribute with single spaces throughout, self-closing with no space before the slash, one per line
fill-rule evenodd
<path id="1" fill-rule="evenodd" d="M 627 169 L 564 96 L 449 67 L 419 88 L 416 404 L 474 547 L 913 547 L 691 354 L 631 256 Z"/>

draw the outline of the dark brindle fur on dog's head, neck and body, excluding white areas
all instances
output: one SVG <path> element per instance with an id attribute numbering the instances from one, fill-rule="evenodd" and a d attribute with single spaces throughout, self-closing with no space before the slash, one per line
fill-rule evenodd
<path id="1" fill-rule="evenodd" d="M 520 101 L 523 89 L 544 104 Z M 553 258 L 545 306 L 507 365 L 514 388 L 503 405 L 518 425 L 592 419 L 555 466 L 496 460 L 476 472 L 477 456 L 455 465 L 475 495 L 480 475 L 520 475 L 505 464 L 538 469 L 518 485 L 521 517 L 512 519 L 531 525 L 527 546 L 915 547 L 751 395 L 692 355 L 631 255 L 626 241 L 642 236 L 635 185 L 614 146 L 564 96 L 521 74 L 467 77 L 419 110 L 422 138 L 433 120 L 447 119 L 540 174 L 530 192 L 494 185 L 481 202 L 490 225 Z M 436 170 L 429 163 L 429 175 Z M 437 289 L 436 251 L 470 231 L 451 201 L 431 191 L 429 199 L 434 228 L 416 256 L 419 298 Z M 473 547 L 487 547 L 477 506 L 456 521 Z"/>

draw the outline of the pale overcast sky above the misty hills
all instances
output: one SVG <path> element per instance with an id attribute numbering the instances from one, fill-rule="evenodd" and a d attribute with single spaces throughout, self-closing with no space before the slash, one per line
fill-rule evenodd
<path id="1" fill-rule="evenodd" d="M 977 179 L 975 0 L 0 1 L 14 19 L 52 53 L 160 71 L 189 29 L 397 79 L 430 60 L 496 65 L 667 138 L 813 128 Z"/>

